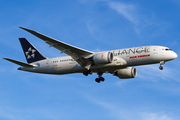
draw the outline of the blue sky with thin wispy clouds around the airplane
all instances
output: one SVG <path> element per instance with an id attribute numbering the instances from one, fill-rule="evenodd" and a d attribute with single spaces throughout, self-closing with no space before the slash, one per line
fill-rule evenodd
<path id="1" fill-rule="evenodd" d="M 18 28 L 89 51 L 146 45 L 180 54 L 179 0 L 0 0 L 0 58 L 26 62 L 18 38 L 41 53 L 59 50 Z M 0 120 L 179 120 L 180 58 L 136 67 L 134 79 L 104 74 L 44 75 L 0 60 Z"/>

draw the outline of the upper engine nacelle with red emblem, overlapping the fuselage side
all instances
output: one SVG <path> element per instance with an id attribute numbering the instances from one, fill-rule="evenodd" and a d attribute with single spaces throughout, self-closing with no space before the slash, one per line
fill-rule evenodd
<path id="1" fill-rule="evenodd" d="M 95 64 L 111 63 L 113 61 L 113 53 L 111 52 L 97 53 L 93 56 L 93 61 Z"/>

